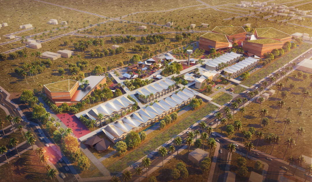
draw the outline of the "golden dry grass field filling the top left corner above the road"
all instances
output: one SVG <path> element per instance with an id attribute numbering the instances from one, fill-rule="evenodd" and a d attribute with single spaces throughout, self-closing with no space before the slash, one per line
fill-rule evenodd
<path id="1" fill-rule="evenodd" d="M 88 26 L 90 23 L 98 23 L 97 19 L 99 18 L 94 15 L 34 0 L 15 2 L 2 0 L 0 6 L 2 7 L 0 19 L 2 22 L 8 23 L 8 27 L 1 28 L 1 36 L 23 30 L 20 29 L 19 26 L 28 23 L 37 28 L 37 33 L 43 32 L 44 29 L 51 30 L 52 27 L 57 28 L 62 26 L 60 24 L 48 24 L 47 22 L 49 19 L 57 19 L 59 23 L 61 23 L 61 21 L 69 21 L 69 26 L 83 28 L 84 25 Z M 71 21 L 73 22 L 71 23 Z M 87 21 L 90 22 L 88 23 Z M 105 20 L 101 18 L 101 21 L 103 22 Z M 83 24 L 83 22 L 85 22 L 85 24 Z M 22 35 L 32 35 L 34 32 L 32 34 L 29 33 L 31 32 L 27 31 Z"/>

